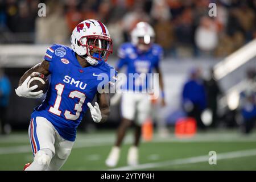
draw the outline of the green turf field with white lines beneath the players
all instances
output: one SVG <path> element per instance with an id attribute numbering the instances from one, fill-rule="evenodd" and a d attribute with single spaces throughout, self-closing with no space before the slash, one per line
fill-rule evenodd
<path id="1" fill-rule="evenodd" d="M 142 142 L 140 164 L 126 164 L 127 150 L 133 136 L 125 138 L 118 166 L 108 168 L 105 159 L 115 140 L 114 131 L 77 135 L 76 143 L 62 170 L 256 170 L 256 132 L 249 136 L 237 130 L 199 133 L 191 139 L 167 138 L 154 135 L 151 142 Z M 210 165 L 209 151 L 217 152 L 217 164 Z M 0 170 L 22 170 L 32 162 L 28 135 L 13 133 L 0 137 Z"/>

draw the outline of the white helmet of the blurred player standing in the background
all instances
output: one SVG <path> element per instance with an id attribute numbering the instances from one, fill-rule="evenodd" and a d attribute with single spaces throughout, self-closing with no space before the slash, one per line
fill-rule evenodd
<path id="1" fill-rule="evenodd" d="M 131 31 L 131 42 L 146 51 L 155 40 L 155 31 L 147 22 L 139 22 Z"/>

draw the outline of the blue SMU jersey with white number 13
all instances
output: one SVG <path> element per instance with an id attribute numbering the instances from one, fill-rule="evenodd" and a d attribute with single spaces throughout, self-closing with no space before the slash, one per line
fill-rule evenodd
<path id="1" fill-rule="evenodd" d="M 44 60 L 49 62 L 51 73 L 49 88 L 45 100 L 35 107 L 31 117 L 47 118 L 61 137 L 75 141 L 87 103 L 92 102 L 98 86 L 104 88 L 113 82 L 114 68 L 104 61 L 82 68 L 73 49 L 59 44 L 47 49 Z"/>

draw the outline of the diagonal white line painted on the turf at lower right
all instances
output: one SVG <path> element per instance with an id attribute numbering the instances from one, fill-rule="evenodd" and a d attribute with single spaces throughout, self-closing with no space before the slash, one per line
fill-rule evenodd
<path id="1" fill-rule="evenodd" d="M 218 160 L 242 158 L 242 157 L 254 156 L 254 155 L 256 155 L 256 148 L 252 150 L 225 152 L 221 154 L 217 153 L 217 164 L 218 164 Z M 146 164 L 139 164 L 137 166 L 125 166 L 125 167 L 113 168 L 113 169 L 109 169 L 108 171 L 132 171 L 132 170 L 138 170 L 138 169 L 150 169 L 150 168 L 153 169 L 153 168 L 159 168 L 159 167 L 174 166 L 179 164 L 193 164 L 193 163 L 201 163 L 201 162 L 208 163 L 209 158 L 210 156 L 208 155 L 201 155 L 201 156 L 195 156 L 192 158 L 168 160 L 166 162 L 146 163 Z"/>

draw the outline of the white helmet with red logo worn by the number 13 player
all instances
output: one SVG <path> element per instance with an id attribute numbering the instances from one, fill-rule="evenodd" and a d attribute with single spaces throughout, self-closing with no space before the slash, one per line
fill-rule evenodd
<path id="1" fill-rule="evenodd" d="M 108 60 L 113 52 L 108 28 L 94 19 L 84 20 L 75 27 L 71 35 L 71 47 L 91 65 Z"/>

